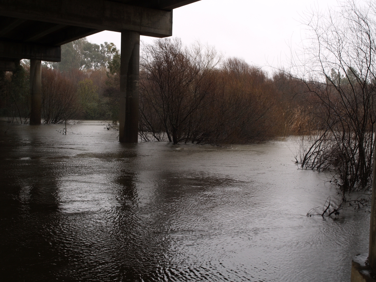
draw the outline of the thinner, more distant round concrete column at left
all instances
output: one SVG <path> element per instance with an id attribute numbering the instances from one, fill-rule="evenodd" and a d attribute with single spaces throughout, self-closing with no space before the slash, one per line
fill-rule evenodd
<path id="1" fill-rule="evenodd" d="M 30 124 L 41 124 L 42 61 L 30 60 Z"/>

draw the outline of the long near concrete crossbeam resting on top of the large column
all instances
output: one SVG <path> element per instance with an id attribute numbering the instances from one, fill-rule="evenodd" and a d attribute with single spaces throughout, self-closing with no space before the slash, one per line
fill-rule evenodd
<path id="1" fill-rule="evenodd" d="M 0 15 L 160 38 L 172 35 L 172 11 L 108 0 L 2 0 Z"/>

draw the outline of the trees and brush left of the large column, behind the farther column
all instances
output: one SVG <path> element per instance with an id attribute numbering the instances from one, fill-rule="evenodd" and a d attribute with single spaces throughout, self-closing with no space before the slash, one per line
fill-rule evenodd
<path id="1" fill-rule="evenodd" d="M 61 62 L 42 64 L 42 122 L 117 120 L 118 92 L 111 74 L 117 57 L 113 43 L 82 38 L 63 45 Z M 29 71 L 29 61 L 23 60 L 14 72 L 0 72 L 0 116 L 11 122 L 29 122 Z"/>

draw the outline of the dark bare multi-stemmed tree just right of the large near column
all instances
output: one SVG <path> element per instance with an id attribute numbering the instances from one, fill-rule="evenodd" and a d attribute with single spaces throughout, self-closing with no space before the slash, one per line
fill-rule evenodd
<path id="1" fill-rule="evenodd" d="M 211 72 L 220 62 L 212 47 L 188 49 L 180 39 L 146 44 L 140 61 L 140 132 L 161 138 L 163 130 L 174 144 L 191 135 L 194 114 L 211 89 Z M 145 136 L 145 135 L 141 135 Z"/>

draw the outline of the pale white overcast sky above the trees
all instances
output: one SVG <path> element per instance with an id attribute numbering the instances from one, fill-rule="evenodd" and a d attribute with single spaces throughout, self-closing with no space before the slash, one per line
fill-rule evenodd
<path id="1" fill-rule="evenodd" d="M 173 36 L 185 44 L 199 40 L 227 57 L 261 66 L 288 66 L 291 50 L 304 38 L 304 14 L 338 6 L 337 0 L 201 0 L 173 11 Z M 120 33 L 88 36 L 93 43 L 114 42 Z M 154 38 L 141 36 L 144 42 Z M 266 69 L 270 69 L 266 67 Z"/>

